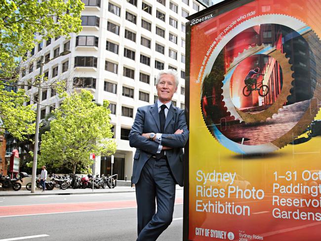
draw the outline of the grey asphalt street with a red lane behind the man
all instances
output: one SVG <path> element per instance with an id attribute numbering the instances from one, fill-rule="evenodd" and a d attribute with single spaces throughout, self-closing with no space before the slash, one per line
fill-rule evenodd
<path id="1" fill-rule="evenodd" d="M 183 190 L 158 241 L 182 240 Z M 0 197 L 0 241 L 134 241 L 135 193 Z M 24 237 L 24 239 L 22 239 Z"/>

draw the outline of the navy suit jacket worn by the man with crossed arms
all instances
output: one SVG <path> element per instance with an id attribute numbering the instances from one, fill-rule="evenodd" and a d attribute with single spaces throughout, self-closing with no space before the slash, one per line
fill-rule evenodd
<path id="1" fill-rule="evenodd" d="M 174 134 L 177 129 L 183 130 L 183 133 Z M 151 132 L 161 133 L 157 102 L 154 105 L 137 109 L 135 121 L 129 133 L 129 145 L 136 148 L 132 174 L 132 182 L 135 184 L 139 180 L 144 164 L 157 153 L 159 148 L 159 143 L 142 136 L 142 133 Z M 184 110 L 170 105 L 163 132 L 161 145 L 172 148 L 165 151 L 166 157 L 176 183 L 182 187 L 184 173 L 183 147 L 189 136 Z"/>

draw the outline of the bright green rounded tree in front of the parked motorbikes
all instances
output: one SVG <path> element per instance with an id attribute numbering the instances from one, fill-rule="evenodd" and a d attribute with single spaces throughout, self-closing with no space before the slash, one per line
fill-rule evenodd
<path id="1" fill-rule="evenodd" d="M 63 100 L 54 112 L 50 131 L 42 134 L 39 166 L 63 165 L 76 173 L 78 166 L 92 164 L 90 153 L 109 156 L 116 152 L 109 102 L 104 100 L 100 106 L 92 100 L 93 95 L 87 90 Z"/>

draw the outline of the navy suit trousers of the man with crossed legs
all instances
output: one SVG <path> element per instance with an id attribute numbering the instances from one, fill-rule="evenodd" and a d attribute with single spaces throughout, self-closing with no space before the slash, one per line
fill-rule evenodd
<path id="1" fill-rule="evenodd" d="M 166 159 L 150 158 L 145 163 L 139 181 L 135 185 L 137 241 L 156 241 L 172 222 L 175 185 Z"/>

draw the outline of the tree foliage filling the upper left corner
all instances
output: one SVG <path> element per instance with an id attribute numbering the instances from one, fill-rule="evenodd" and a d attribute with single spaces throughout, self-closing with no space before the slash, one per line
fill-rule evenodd
<path id="1" fill-rule="evenodd" d="M 18 82 L 21 63 L 42 39 L 79 33 L 83 5 L 81 0 L 0 0 L 0 118 L 15 137 L 33 133 L 35 120 L 31 107 L 23 106 L 30 98 L 25 83 Z"/>

